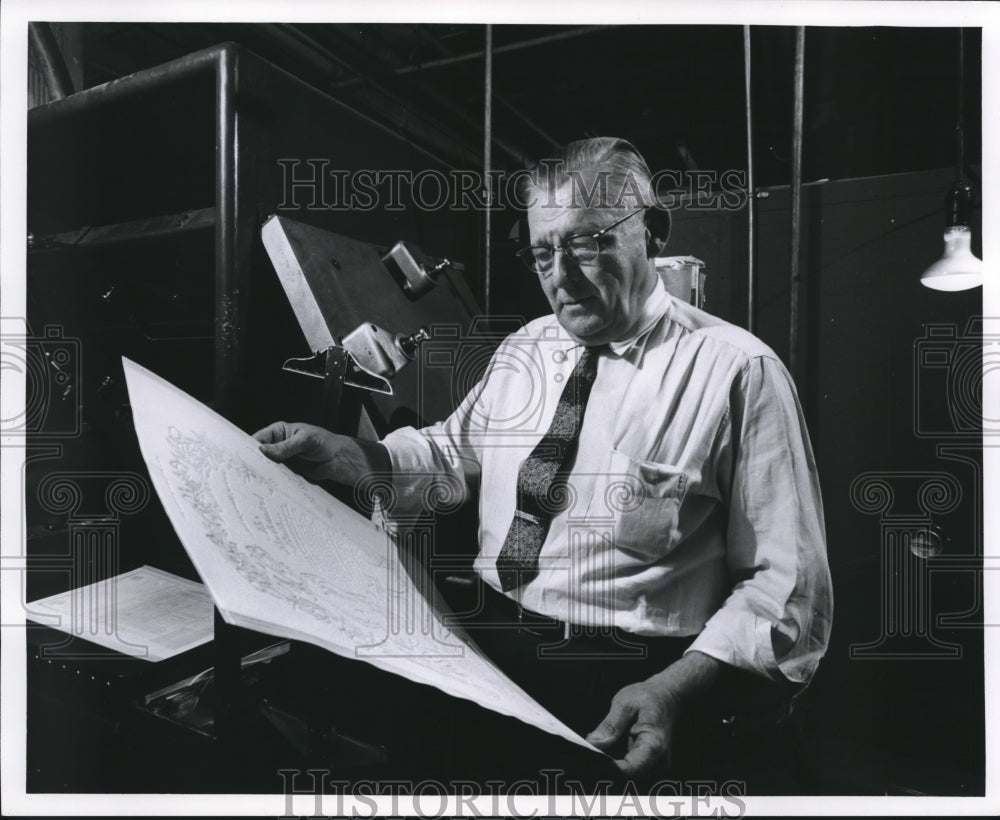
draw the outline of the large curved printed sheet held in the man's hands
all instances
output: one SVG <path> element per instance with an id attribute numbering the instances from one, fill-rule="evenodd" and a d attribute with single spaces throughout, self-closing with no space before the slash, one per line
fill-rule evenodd
<path id="1" fill-rule="evenodd" d="M 228 623 L 321 646 L 594 749 L 447 629 L 370 521 L 123 360 L 153 486 Z"/>

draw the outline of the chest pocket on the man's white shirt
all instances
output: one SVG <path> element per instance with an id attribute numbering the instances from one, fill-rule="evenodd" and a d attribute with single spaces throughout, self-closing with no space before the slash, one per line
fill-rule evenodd
<path id="1" fill-rule="evenodd" d="M 595 523 L 603 519 L 616 549 L 645 563 L 677 546 L 680 507 L 687 490 L 683 470 L 612 450 L 597 489 L 590 514 Z"/>

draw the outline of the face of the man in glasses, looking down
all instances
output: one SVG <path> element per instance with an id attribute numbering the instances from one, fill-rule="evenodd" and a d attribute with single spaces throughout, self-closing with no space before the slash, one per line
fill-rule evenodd
<path id="1" fill-rule="evenodd" d="M 591 186 L 593 177 L 586 179 Z M 634 210 L 632 200 L 622 207 L 582 207 L 572 201 L 567 184 L 551 198 L 538 196 L 528 209 L 532 245 L 562 245 L 567 237 L 593 234 Z M 613 200 L 612 200 L 613 201 Z M 578 264 L 557 251 L 547 277 L 539 275 L 552 311 L 566 331 L 585 345 L 602 345 L 628 338 L 636 329 L 642 306 L 653 289 L 656 273 L 646 258 L 646 230 L 642 214 L 626 219 L 598 239 L 600 253 L 588 264 Z"/>

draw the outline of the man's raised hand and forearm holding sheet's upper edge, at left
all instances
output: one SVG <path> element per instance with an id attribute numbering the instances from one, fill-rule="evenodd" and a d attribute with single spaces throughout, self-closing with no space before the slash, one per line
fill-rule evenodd
<path id="1" fill-rule="evenodd" d="M 313 424 L 276 421 L 253 437 L 269 459 L 311 481 L 353 485 L 367 475 L 392 471 L 389 453 L 378 442 L 338 436 Z"/>

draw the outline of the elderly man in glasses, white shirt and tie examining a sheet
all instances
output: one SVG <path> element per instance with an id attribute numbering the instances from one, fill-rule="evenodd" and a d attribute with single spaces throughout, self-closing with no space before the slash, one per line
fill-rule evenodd
<path id="1" fill-rule="evenodd" d="M 529 182 L 520 255 L 553 313 L 452 416 L 381 443 L 281 422 L 257 438 L 311 478 L 391 473 L 399 509 L 435 475 L 478 490 L 484 611 L 512 624 L 483 630 L 487 651 L 650 773 L 724 670 L 814 673 L 832 613 L 816 465 L 777 356 L 664 290 L 634 147 L 575 142 Z"/>

